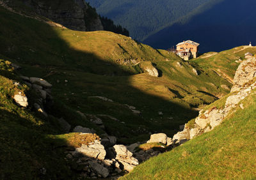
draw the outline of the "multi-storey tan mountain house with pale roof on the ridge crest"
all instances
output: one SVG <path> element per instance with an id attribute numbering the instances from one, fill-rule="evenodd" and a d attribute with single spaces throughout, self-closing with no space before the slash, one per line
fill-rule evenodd
<path id="1" fill-rule="evenodd" d="M 191 58 L 196 58 L 198 56 L 198 46 L 200 44 L 194 41 L 188 40 L 178 43 L 176 45 L 177 49 L 175 53 L 182 59 L 188 61 Z"/>

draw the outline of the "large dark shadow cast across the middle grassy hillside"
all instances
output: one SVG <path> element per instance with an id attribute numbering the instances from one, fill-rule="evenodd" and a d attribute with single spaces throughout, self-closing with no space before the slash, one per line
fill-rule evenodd
<path id="1" fill-rule="evenodd" d="M 140 137 L 141 140 L 147 139 L 148 133 L 155 131 L 172 135 L 179 124 L 186 123 L 197 114 L 179 101 L 166 100 L 158 94 L 147 94 L 140 87 L 131 86 L 131 76 L 128 75 L 134 73 L 134 69 L 129 69 L 130 66 L 117 66 L 109 59 L 74 49 L 70 41 L 81 42 L 76 37 L 65 41 L 60 35 L 62 31 L 70 31 L 68 29 L 47 26 L 3 8 L 1 25 L 0 54 L 19 63 L 23 75 L 49 80 L 53 85 L 52 94 L 73 110 L 120 118 L 120 123 L 106 122 L 106 131 L 124 138 L 123 142 L 131 142 L 129 139 L 141 134 L 144 135 Z M 92 100 L 90 96 L 106 96 L 114 102 Z M 133 114 L 125 107 L 126 103 L 139 109 L 141 115 Z M 164 115 L 160 115 L 159 111 Z M 61 116 L 60 112 L 52 112 L 52 115 Z M 72 118 L 66 120 L 71 122 Z M 145 129 L 143 133 L 141 129 Z"/>

